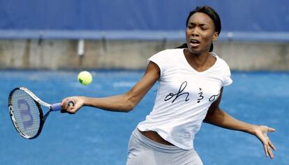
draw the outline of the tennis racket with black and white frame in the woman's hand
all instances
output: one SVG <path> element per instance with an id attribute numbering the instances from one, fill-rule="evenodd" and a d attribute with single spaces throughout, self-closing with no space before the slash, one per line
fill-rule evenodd
<path id="1" fill-rule="evenodd" d="M 45 116 L 43 116 L 41 105 L 49 108 Z M 73 105 L 74 102 L 70 101 L 67 106 Z M 39 136 L 50 112 L 61 110 L 61 103 L 48 104 L 40 100 L 29 89 L 18 87 L 10 92 L 8 109 L 17 132 L 25 139 L 34 139 Z"/>

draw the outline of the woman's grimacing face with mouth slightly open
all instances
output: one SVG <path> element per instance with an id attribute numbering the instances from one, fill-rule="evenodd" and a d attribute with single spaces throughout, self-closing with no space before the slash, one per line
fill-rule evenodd
<path id="1" fill-rule="evenodd" d="M 188 19 L 186 26 L 186 42 L 188 50 L 193 54 L 209 52 L 213 41 L 217 40 L 214 21 L 205 13 L 195 13 Z"/>

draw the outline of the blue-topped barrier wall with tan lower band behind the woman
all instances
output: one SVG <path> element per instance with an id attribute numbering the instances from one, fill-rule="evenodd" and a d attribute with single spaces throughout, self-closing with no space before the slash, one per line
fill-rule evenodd
<path id="1" fill-rule="evenodd" d="M 214 51 L 233 70 L 289 70 L 286 0 L 1 0 L 0 68 L 142 69 L 152 54 L 185 42 L 186 17 L 203 5 L 221 17 Z"/>

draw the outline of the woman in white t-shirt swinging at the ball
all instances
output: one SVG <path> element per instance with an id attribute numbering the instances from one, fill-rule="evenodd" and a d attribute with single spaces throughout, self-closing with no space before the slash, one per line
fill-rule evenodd
<path id="1" fill-rule="evenodd" d="M 104 98 L 67 97 L 64 112 L 82 106 L 128 112 L 159 82 L 154 109 L 131 135 L 126 164 L 202 164 L 193 139 L 202 121 L 253 134 L 262 142 L 265 155 L 274 157 L 267 126 L 251 125 L 232 118 L 219 107 L 223 86 L 232 83 L 230 68 L 212 53 L 212 42 L 221 32 L 221 20 L 209 6 L 197 7 L 186 21 L 186 44 L 149 58 L 144 76 L 124 95 Z M 68 100 L 75 102 L 66 107 Z"/>

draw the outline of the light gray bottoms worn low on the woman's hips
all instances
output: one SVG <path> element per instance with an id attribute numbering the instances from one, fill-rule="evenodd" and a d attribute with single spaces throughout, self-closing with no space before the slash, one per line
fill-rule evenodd
<path id="1" fill-rule="evenodd" d="M 136 128 L 128 144 L 126 165 L 202 165 L 195 150 L 184 150 L 148 139 Z"/>

